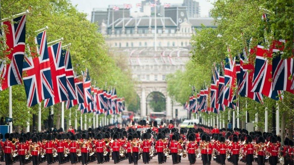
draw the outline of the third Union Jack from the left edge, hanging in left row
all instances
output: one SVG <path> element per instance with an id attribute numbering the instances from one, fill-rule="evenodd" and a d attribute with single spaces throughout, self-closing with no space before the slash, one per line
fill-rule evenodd
<path id="1" fill-rule="evenodd" d="M 69 100 L 67 93 L 64 58 L 61 57 L 61 42 L 48 47 L 54 97 L 45 99 L 44 107 Z"/>

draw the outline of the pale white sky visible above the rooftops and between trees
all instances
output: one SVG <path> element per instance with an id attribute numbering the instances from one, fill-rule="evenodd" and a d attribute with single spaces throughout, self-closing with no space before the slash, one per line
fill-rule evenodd
<path id="1" fill-rule="evenodd" d="M 87 19 L 91 19 L 91 11 L 93 8 L 107 8 L 108 5 L 123 5 L 132 4 L 132 11 L 138 10 L 136 8 L 137 3 L 141 3 L 141 0 L 70 0 L 73 5 L 77 5 L 77 9 L 80 12 L 88 14 Z M 201 17 L 208 17 L 208 11 L 212 8 L 211 2 L 213 0 L 195 0 L 199 2 Z M 183 0 L 160 0 L 161 4 L 182 4 Z"/>

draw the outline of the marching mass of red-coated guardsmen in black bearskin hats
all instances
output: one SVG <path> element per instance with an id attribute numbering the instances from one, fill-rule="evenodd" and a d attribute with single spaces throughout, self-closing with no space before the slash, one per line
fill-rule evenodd
<path id="1" fill-rule="evenodd" d="M 94 161 L 116 164 L 125 159 L 136 165 L 141 158 L 144 164 L 149 163 L 155 155 L 158 155 L 158 164 L 170 158 L 173 164 L 181 163 L 184 157 L 195 164 L 196 158 L 201 157 L 203 165 L 211 161 L 222 165 L 226 162 L 237 165 L 239 161 L 246 165 L 254 161 L 258 165 L 266 162 L 276 165 L 280 160 L 285 165 L 293 165 L 293 141 L 288 138 L 283 139 L 281 145 L 280 136 L 272 133 L 218 129 L 217 125 L 213 129 L 195 125 L 179 130 L 173 121 L 158 125 L 157 121 L 142 120 L 121 129 L 99 127 L 78 132 L 70 126 L 67 132 L 54 129 L 45 133 L 6 133 L 4 139 L 1 161 L 6 165 L 69 161 L 83 165 Z"/>

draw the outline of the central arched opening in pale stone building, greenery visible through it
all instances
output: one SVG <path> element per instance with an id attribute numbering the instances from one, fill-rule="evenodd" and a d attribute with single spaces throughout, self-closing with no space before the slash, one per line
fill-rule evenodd
<path id="1" fill-rule="evenodd" d="M 151 92 L 146 97 L 147 115 L 150 112 L 165 112 L 166 111 L 166 98 L 161 92 Z"/>

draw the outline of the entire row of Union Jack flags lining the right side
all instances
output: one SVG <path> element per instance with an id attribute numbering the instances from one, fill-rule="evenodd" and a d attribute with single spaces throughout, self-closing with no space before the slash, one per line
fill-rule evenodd
<path id="1" fill-rule="evenodd" d="M 184 109 L 219 114 L 225 106 L 236 109 L 238 95 L 263 103 L 264 96 L 281 100 L 283 91 L 294 94 L 294 60 L 293 55 L 282 58 L 285 42 L 274 40 L 268 48 L 257 45 L 235 57 L 228 48 L 225 63 L 212 67 L 210 87 L 190 96 Z"/>

